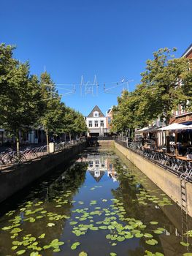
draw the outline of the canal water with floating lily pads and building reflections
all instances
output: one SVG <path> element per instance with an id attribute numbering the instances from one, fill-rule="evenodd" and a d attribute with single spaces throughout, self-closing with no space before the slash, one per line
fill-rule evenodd
<path id="1" fill-rule="evenodd" d="M 1 206 L 0 255 L 190 256 L 191 219 L 181 219 L 122 156 L 85 151 Z"/>

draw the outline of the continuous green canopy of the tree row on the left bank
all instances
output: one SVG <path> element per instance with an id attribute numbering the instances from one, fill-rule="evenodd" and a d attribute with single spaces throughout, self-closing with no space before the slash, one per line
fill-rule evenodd
<path id="1" fill-rule="evenodd" d="M 14 59 L 13 50 L 12 45 L 0 45 L 0 126 L 17 140 L 21 130 L 39 126 L 47 132 L 47 140 L 50 132 L 85 132 L 83 116 L 61 102 L 50 74 L 31 75 L 28 61 Z"/>

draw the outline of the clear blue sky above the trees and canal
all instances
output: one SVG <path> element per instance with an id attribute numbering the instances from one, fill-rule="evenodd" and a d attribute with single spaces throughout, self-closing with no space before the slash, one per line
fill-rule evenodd
<path id="1" fill-rule="evenodd" d="M 86 116 L 94 105 L 105 113 L 117 103 L 104 82 L 132 79 L 133 90 L 154 50 L 177 47 L 181 56 L 192 42 L 191 11 L 191 0 L 1 0 L 0 40 L 17 46 L 15 57 L 29 60 L 32 74 L 46 66 L 55 83 L 96 75 L 98 97 L 81 97 L 76 86 L 62 98 Z"/>

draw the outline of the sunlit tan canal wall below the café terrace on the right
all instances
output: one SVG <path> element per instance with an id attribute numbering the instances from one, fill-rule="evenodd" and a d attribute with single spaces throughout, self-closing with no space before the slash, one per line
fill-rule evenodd
<path id="1" fill-rule="evenodd" d="M 156 184 L 160 189 L 162 189 L 166 195 L 168 195 L 172 200 L 181 207 L 181 183 L 180 177 L 175 175 L 175 173 L 166 170 L 164 167 L 151 162 L 149 159 L 142 157 L 141 155 L 131 151 L 119 143 L 115 142 L 115 148 L 120 151 L 129 161 L 131 161 L 142 173 L 150 178 L 154 184 Z M 187 198 L 187 212 L 188 215 L 192 217 L 192 184 L 186 182 L 186 198 Z"/>

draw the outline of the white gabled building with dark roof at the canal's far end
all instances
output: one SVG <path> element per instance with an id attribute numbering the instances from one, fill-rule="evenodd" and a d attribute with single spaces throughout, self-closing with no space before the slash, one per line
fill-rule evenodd
<path id="1" fill-rule="evenodd" d="M 86 118 L 90 136 L 104 136 L 107 134 L 106 117 L 98 106 L 95 106 Z"/>

